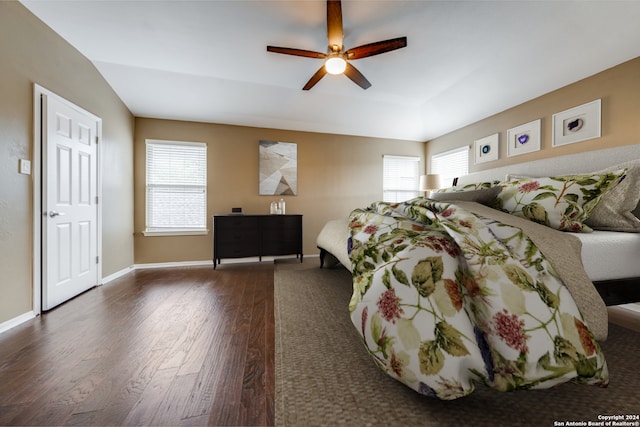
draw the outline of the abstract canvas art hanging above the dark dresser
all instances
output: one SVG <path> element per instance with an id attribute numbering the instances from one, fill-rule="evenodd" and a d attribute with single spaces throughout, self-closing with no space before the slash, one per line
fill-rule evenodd
<path id="1" fill-rule="evenodd" d="M 298 194 L 298 145 L 260 141 L 260 195 Z"/>

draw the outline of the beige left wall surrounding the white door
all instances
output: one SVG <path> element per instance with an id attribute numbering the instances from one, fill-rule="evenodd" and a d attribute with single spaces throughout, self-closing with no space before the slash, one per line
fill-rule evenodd
<path id="1" fill-rule="evenodd" d="M 95 67 L 20 3 L 0 1 L 0 323 L 33 309 L 33 84 L 103 120 L 103 275 L 133 264 L 133 116 Z"/>

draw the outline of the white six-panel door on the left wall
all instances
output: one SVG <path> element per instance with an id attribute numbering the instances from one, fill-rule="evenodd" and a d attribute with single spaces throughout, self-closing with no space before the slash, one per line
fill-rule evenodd
<path id="1" fill-rule="evenodd" d="M 100 119 L 42 99 L 42 308 L 96 286 Z"/>

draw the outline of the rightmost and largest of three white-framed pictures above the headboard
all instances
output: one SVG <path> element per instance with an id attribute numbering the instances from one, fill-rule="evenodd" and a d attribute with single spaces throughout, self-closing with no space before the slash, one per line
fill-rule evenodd
<path id="1" fill-rule="evenodd" d="M 554 147 L 600 137 L 602 100 L 570 108 L 553 115 Z"/>

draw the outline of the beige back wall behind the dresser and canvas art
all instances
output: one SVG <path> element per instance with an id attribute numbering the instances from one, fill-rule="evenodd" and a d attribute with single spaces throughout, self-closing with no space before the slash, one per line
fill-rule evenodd
<path id="1" fill-rule="evenodd" d="M 411 141 L 144 118 L 136 119 L 135 129 L 136 264 L 210 260 L 211 215 L 238 206 L 246 213 L 269 213 L 271 202 L 280 197 L 258 195 L 261 139 L 298 144 L 298 195 L 284 199 L 288 213 L 304 215 L 305 254 L 318 253 L 316 237 L 327 220 L 382 198 L 383 154 L 424 155 L 424 143 Z M 207 143 L 208 235 L 142 236 L 145 139 Z"/>

